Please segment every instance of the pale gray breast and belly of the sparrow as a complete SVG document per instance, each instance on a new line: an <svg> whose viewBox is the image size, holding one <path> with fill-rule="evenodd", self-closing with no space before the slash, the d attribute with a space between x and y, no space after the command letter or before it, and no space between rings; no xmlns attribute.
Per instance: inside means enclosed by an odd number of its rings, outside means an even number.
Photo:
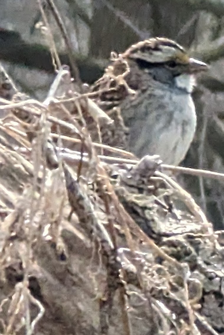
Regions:
<svg viewBox="0 0 224 335"><path fill-rule="evenodd" d="M137 156L159 154L164 163L178 165L193 139L196 115L191 95L154 82L121 105L130 128L130 150Z"/></svg>

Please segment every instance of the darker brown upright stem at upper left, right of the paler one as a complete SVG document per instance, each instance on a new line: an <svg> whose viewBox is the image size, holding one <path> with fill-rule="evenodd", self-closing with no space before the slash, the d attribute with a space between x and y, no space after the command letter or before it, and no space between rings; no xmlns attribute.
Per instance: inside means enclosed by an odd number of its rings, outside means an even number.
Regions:
<svg viewBox="0 0 224 335"><path fill-rule="evenodd" d="M76 82L79 85L79 88L81 89L81 84L82 83L81 83L80 76L79 76L79 70L78 70L78 67L75 64L74 58L72 56L72 47L71 47L70 40L68 38L68 34L67 34L67 31L66 31L64 22L62 21L62 19L60 17L60 14L58 12L57 7L54 4L54 1L53 0L46 0L46 1L49 5L49 7L52 11L52 14L53 14L53 16L54 16L54 18L55 18L55 20L58 24L58 27L61 31L62 37L64 39L64 42L65 42L65 45L66 45L66 48L67 48L67 51L68 51L68 58L69 58L69 62L70 62L71 68L72 68L72 72L74 73Z"/></svg>

